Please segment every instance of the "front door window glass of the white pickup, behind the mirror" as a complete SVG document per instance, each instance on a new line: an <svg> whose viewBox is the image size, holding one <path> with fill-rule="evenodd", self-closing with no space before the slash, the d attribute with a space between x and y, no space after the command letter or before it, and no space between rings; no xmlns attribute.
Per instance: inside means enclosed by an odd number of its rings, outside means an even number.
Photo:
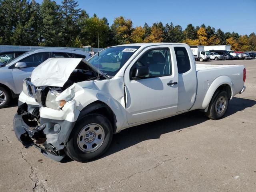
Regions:
<svg viewBox="0 0 256 192"><path fill-rule="evenodd" d="M139 66L147 66L150 74L148 77L171 75L170 52L168 48L154 49L146 52L131 68L130 75L135 76Z"/></svg>

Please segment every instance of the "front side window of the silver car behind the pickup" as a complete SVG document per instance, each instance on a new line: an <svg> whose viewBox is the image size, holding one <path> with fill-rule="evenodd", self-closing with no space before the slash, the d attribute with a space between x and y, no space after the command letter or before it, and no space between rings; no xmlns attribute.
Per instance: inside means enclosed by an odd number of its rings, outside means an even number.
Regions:
<svg viewBox="0 0 256 192"><path fill-rule="evenodd" d="M49 58L49 52L42 52L30 55L21 60L21 62L25 62L27 67L36 67L40 65L42 62Z"/></svg>

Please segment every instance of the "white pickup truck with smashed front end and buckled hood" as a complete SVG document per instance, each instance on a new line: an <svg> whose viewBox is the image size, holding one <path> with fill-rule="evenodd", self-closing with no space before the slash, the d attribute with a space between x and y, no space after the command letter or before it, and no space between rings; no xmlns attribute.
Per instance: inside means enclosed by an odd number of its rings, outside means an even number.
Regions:
<svg viewBox="0 0 256 192"><path fill-rule="evenodd" d="M109 58L116 54L120 61ZM196 109L222 118L245 78L242 65L196 64L181 43L114 46L88 61L50 58L24 80L14 132L56 161L86 162L132 126Z"/></svg>

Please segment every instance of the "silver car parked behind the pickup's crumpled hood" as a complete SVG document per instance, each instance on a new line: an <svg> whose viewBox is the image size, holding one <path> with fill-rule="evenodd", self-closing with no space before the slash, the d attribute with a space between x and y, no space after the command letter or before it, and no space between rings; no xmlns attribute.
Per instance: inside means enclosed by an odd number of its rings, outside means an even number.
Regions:
<svg viewBox="0 0 256 192"><path fill-rule="evenodd" d="M0 108L22 92L23 80L48 58L90 58L86 52L68 49L38 49L25 52L0 65Z"/></svg>

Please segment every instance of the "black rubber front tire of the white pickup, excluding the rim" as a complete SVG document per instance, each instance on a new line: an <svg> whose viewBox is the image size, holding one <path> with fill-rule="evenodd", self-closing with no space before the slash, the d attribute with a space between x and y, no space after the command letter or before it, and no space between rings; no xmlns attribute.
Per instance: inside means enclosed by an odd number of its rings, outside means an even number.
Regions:
<svg viewBox="0 0 256 192"><path fill-rule="evenodd" d="M98 124L104 130L104 140L100 147L93 152L83 152L78 146L78 136L86 125ZM88 162L100 157L110 146L113 129L110 121L101 114L89 114L80 119L74 126L66 144L66 154L75 161ZM81 141L81 140L80 140Z"/></svg>

